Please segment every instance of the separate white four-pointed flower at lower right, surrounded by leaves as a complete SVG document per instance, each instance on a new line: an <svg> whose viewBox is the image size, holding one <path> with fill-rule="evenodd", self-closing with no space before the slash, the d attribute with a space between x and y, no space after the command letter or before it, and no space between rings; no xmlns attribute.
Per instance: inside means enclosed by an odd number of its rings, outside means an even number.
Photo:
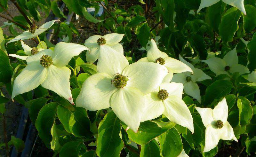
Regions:
<svg viewBox="0 0 256 157"><path fill-rule="evenodd" d="M236 136L232 126L228 123L228 105L226 98L223 98L217 106L211 108L195 107L202 118L205 129L205 145L203 152L209 152L219 140L235 140Z"/></svg>

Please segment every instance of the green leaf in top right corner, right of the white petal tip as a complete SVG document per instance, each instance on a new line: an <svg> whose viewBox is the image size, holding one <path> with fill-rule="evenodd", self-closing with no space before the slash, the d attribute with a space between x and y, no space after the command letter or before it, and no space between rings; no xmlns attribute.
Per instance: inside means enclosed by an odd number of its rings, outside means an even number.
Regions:
<svg viewBox="0 0 256 157"><path fill-rule="evenodd" d="M243 14L244 30L249 33L256 27L256 9L252 5L244 5L246 15Z"/></svg>

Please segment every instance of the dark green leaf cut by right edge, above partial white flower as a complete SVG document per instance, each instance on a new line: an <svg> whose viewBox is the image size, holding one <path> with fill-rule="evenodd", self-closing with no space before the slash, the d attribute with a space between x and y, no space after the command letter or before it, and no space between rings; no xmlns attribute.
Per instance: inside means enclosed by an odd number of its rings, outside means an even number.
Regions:
<svg viewBox="0 0 256 157"><path fill-rule="evenodd" d="M250 50L248 54L248 69L250 72L252 72L254 69L256 69L256 33L253 34L252 40L247 44L247 49Z"/></svg>

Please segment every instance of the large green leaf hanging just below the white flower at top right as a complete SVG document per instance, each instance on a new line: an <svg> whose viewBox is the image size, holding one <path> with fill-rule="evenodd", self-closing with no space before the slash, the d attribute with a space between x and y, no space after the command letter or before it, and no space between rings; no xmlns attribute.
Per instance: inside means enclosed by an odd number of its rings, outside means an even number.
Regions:
<svg viewBox="0 0 256 157"><path fill-rule="evenodd" d="M240 17L241 11L235 7L228 9L228 11L221 17L219 34L224 42L233 41L233 37L238 30L238 20Z"/></svg>

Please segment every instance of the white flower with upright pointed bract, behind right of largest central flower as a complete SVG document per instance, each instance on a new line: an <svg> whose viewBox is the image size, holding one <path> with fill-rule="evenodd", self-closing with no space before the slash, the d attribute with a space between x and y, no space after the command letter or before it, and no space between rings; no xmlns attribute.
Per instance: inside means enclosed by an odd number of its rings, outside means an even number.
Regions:
<svg viewBox="0 0 256 157"><path fill-rule="evenodd" d="M148 50L147 57L141 58L138 62L154 62L164 65L169 73L165 76L163 82L171 82L173 73L182 73L193 70L181 61L168 57L168 55L157 48L156 42L151 39L151 47Z"/></svg>

